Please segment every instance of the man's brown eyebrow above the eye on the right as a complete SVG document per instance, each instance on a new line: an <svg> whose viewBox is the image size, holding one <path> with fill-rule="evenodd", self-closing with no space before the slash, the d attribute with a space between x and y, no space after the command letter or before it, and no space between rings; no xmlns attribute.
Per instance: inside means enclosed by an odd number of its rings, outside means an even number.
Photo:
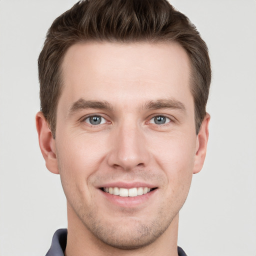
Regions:
<svg viewBox="0 0 256 256"><path fill-rule="evenodd" d="M143 105L142 108L145 108L145 109L171 108L171 109L181 110L182 112L186 111L186 108L182 102L172 98L149 100Z"/></svg>

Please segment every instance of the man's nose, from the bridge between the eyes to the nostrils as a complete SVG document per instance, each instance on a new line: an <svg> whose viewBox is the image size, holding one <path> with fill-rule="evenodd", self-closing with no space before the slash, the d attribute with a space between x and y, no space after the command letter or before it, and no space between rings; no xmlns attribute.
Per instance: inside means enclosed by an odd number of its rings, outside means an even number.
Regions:
<svg viewBox="0 0 256 256"><path fill-rule="evenodd" d="M136 125L122 125L111 136L108 164L131 170L144 167L150 159L145 135Z"/></svg>

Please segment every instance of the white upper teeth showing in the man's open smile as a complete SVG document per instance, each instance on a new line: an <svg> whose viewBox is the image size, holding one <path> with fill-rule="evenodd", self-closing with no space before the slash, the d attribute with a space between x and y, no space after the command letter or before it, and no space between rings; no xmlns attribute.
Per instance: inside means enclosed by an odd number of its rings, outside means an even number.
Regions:
<svg viewBox="0 0 256 256"><path fill-rule="evenodd" d="M123 188L123 187L102 187L101 190L103 190L106 193L119 195L123 197L128 196L139 196L146 193L149 193L150 191L154 190L154 188L150 187L132 187L132 188Z"/></svg>

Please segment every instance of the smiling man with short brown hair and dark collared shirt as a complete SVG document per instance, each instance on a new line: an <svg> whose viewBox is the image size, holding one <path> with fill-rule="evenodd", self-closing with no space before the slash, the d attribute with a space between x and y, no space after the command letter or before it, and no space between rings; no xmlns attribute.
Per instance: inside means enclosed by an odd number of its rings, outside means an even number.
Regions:
<svg viewBox="0 0 256 256"><path fill-rule="evenodd" d="M165 0L84 0L38 59L36 115L66 229L46 255L185 255L178 212L206 153L207 47Z"/></svg>

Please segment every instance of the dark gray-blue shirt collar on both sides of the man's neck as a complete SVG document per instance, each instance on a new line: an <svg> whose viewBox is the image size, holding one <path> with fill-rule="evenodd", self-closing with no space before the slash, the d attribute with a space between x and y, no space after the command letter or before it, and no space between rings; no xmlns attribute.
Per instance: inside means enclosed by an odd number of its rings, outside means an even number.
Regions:
<svg viewBox="0 0 256 256"><path fill-rule="evenodd" d="M67 229L58 229L52 237L51 245L45 256L64 256L66 248ZM178 256L186 256L186 253L178 247Z"/></svg>

